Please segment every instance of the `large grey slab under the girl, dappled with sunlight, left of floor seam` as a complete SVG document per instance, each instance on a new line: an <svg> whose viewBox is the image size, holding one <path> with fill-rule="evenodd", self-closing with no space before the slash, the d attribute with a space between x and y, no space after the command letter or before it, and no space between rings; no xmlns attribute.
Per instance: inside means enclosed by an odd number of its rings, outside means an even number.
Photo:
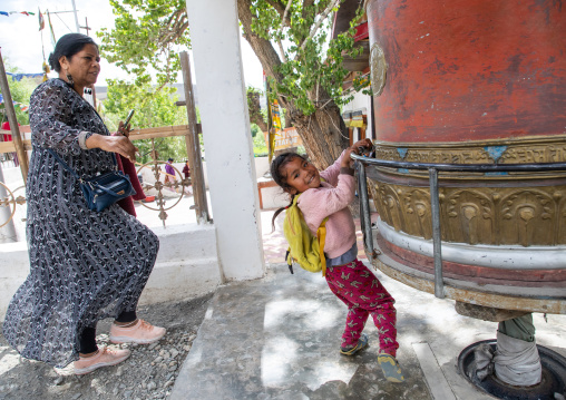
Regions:
<svg viewBox="0 0 566 400"><path fill-rule="evenodd" d="M295 269L296 270L296 269ZM412 360L408 381L383 379L378 336L352 358L339 353L347 309L319 274L289 273L217 290L177 378L172 399L430 399ZM410 349L406 349L410 350ZM401 359L413 357L402 350Z"/></svg>

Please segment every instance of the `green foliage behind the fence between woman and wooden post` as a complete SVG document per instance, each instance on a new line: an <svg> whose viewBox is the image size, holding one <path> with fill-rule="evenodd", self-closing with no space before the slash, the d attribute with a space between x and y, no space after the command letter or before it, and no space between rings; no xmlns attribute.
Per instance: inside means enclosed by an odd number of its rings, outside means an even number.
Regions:
<svg viewBox="0 0 566 400"><path fill-rule="evenodd" d="M108 79L107 82L108 97L103 101L103 118L110 131L118 128L119 121L126 119L130 109L136 111L130 121L134 128L187 124L186 109L175 105L177 96L174 88L164 87L158 90L149 84L138 86L119 79ZM135 145L142 155L139 162L149 162L152 140L136 140ZM155 139L155 145L162 160L169 157L176 160L187 158L183 136Z"/></svg>

